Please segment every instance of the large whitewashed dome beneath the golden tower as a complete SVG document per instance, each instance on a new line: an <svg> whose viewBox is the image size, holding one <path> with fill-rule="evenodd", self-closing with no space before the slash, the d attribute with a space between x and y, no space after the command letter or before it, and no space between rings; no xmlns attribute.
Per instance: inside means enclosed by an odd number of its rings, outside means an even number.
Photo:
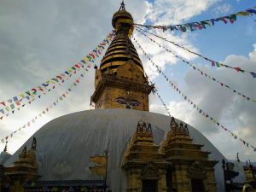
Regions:
<svg viewBox="0 0 256 192"><path fill-rule="evenodd" d="M108 149L108 184L113 192L125 191L126 179L125 172L120 168L121 161L140 119L152 125L154 143L160 144L170 130L171 121L170 117L163 114L131 109L96 109L67 114L50 121L32 136L38 142L36 155L40 180L100 179L90 172L89 166L94 164L89 161L89 157L102 155ZM215 176L218 191L224 191L221 167L224 155L200 131L188 127L194 143L203 144L203 150L212 152L209 157L219 160L215 166ZM5 161L4 166L10 166L18 160L25 145L30 148L32 137Z"/></svg>

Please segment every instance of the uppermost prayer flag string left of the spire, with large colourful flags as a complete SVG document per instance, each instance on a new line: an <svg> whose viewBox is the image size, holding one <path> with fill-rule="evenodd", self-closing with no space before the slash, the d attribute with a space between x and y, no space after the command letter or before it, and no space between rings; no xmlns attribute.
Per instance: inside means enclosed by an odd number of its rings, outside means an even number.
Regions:
<svg viewBox="0 0 256 192"><path fill-rule="evenodd" d="M57 75L55 78L46 81L36 88L20 93L18 96L14 96L5 102L0 102L0 120L2 120L3 117L8 117L10 113L15 113L15 110L20 110L26 103L30 104L36 98L40 98L42 94L46 95L50 90L55 89L55 85L64 83L65 80L68 80L73 75L73 73L77 73L81 65L89 65L90 62L95 62L96 58L102 54L103 49L105 49L113 40L113 37L114 32L112 31L108 34L107 38L103 39L102 43L99 44L96 49L93 49L83 60L73 65L73 67L69 67L64 73Z"/></svg>

